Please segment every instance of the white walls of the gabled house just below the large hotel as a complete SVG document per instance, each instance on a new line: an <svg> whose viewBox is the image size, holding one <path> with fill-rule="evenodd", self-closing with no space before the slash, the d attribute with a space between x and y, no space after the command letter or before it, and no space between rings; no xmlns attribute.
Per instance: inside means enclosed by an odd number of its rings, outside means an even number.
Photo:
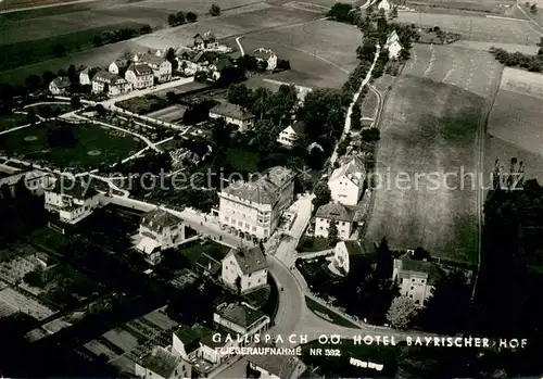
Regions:
<svg viewBox="0 0 543 379"><path fill-rule="evenodd" d="M244 254L250 254L250 252L245 252ZM266 257L262 253L258 257L260 261L255 262L257 269L241 267L243 263L239 262L235 255L236 253L231 250L222 262L220 278L225 285L237 289L236 280L241 278L241 293L248 293L267 286L268 269Z"/></svg>

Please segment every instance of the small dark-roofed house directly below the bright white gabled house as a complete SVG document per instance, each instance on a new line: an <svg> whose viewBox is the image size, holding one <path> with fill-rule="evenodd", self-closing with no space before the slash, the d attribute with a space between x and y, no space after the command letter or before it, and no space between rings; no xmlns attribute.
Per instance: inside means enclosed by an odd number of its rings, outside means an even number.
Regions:
<svg viewBox="0 0 543 379"><path fill-rule="evenodd" d="M338 228L338 238L348 240L353 232L354 212L333 201L319 206L315 213L315 237L328 238L332 223Z"/></svg>

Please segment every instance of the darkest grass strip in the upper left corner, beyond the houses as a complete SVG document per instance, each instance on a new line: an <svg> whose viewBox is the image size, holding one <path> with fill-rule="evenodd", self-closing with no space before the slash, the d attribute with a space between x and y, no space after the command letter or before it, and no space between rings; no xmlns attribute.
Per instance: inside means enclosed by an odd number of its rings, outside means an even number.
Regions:
<svg viewBox="0 0 543 379"><path fill-rule="evenodd" d="M70 55L71 53L92 48L93 37L103 31L125 28L139 29L141 26L143 26L143 24L127 22L67 33L54 37L2 45L0 49L0 70L15 68L63 55ZM59 45L64 47L64 52L55 51L56 49L54 48Z"/></svg>

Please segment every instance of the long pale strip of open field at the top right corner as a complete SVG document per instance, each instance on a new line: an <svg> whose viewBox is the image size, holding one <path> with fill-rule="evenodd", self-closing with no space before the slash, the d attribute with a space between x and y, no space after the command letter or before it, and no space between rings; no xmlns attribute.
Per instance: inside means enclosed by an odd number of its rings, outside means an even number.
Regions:
<svg viewBox="0 0 543 379"><path fill-rule="evenodd" d="M535 45L540 36L529 22L516 20L400 12L396 21L422 26L440 26L446 31L459 33L463 39L475 41Z"/></svg>

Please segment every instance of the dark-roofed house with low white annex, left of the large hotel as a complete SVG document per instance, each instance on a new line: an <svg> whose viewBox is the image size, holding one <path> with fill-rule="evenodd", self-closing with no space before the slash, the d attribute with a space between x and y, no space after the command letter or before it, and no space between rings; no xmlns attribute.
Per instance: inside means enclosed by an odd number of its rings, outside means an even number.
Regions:
<svg viewBox="0 0 543 379"><path fill-rule="evenodd" d="M155 209L141 217L136 249L146 261L156 265L162 260L162 251L185 241L185 223L172 213Z"/></svg>

